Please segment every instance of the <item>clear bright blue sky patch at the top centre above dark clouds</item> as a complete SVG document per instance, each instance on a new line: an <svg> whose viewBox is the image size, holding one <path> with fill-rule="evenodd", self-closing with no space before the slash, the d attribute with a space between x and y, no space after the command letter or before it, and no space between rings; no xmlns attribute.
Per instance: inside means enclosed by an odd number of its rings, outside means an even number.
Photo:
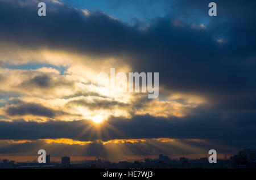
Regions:
<svg viewBox="0 0 256 180"><path fill-rule="evenodd" d="M90 12L101 11L105 14L117 18L129 25L150 24L154 18L166 16L172 8L172 1L148 0L148 1L116 1L116 0L96 0L96 1L64 1L67 5L88 10Z"/></svg>

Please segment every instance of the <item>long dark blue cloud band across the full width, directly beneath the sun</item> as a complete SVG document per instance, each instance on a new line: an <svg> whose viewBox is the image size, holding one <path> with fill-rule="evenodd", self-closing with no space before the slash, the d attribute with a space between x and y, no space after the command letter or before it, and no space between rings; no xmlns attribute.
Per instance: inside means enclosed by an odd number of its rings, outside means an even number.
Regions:
<svg viewBox="0 0 256 180"><path fill-rule="evenodd" d="M204 110L204 109L201 109ZM200 112L200 110L198 110ZM207 112L187 118L135 116L110 118L99 134L92 121L0 122L0 139L111 140L140 138L207 139L233 147L251 147L256 138L256 114Z"/></svg>

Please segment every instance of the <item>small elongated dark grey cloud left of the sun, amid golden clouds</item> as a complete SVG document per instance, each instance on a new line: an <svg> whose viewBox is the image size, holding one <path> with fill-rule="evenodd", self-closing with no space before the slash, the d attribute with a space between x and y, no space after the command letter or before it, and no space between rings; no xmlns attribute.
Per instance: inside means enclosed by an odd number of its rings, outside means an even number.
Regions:
<svg viewBox="0 0 256 180"><path fill-rule="evenodd" d="M60 110L53 110L50 108L47 108L40 104L35 103L27 103L19 101L16 102L15 106L8 106L5 109L6 114L10 116L15 115L38 115L48 118L54 118L58 115L68 115L68 113L62 112Z"/></svg>

